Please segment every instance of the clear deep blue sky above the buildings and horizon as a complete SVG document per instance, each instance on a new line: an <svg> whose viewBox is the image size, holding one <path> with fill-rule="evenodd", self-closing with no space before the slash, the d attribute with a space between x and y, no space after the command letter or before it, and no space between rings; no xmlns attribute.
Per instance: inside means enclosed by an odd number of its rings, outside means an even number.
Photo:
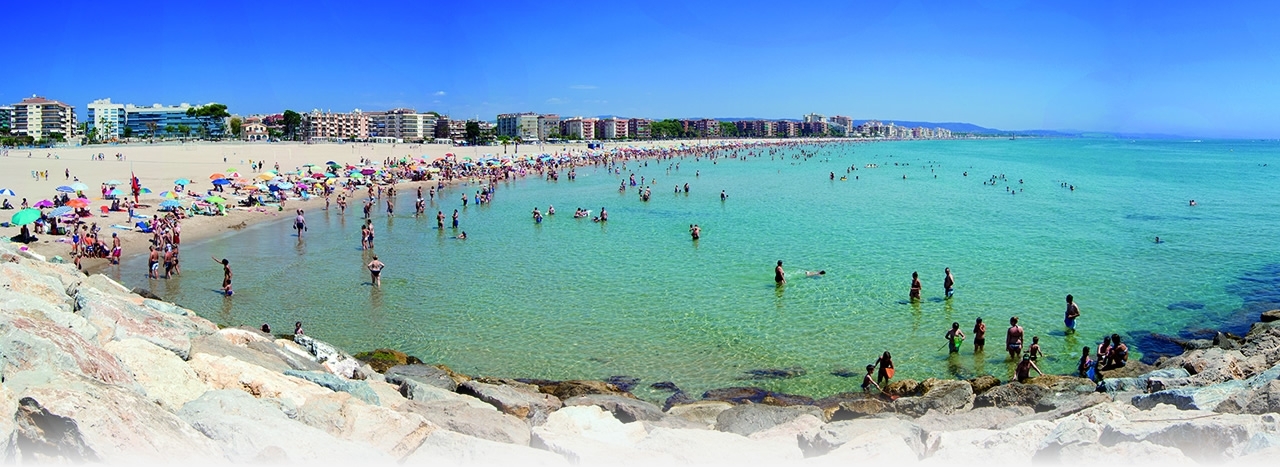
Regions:
<svg viewBox="0 0 1280 467"><path fill-rule="evenodd" d="M1050 5L1062 4L1062 5ZM1280 3L18 1L0 101L1280 137ZM31 22L27 29L20 24ZM29 37L29 40L28 40Z"/></svg>

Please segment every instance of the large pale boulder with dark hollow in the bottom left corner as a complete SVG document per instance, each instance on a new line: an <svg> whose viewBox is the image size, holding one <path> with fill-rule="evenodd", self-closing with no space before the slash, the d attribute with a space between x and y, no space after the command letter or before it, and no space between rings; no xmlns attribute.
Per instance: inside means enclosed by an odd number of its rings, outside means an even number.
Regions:
<svg viewBox="0 0 1280 467"><path fill-rule="evenodd" d="M17 445L23 462L209 462L209 439L145 397L77 375L19 394Z"/></svg>

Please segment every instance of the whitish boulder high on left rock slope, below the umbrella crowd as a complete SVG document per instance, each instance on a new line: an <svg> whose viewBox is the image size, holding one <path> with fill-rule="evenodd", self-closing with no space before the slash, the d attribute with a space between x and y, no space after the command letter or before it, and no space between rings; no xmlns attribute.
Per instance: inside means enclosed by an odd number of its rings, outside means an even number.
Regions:
<svg viewBox="0 0 1280 467"><path fill-rule="evenodd" d="M79 289L76 293L76 312L97 326L99 344L140 338L187 360L191 354L192 338L218 330L204 319L156 310L147 306L148 303L143 303L141 297L129 299L104 294L96 289ZM175 308L172 305L168 307Z"/></svg>

